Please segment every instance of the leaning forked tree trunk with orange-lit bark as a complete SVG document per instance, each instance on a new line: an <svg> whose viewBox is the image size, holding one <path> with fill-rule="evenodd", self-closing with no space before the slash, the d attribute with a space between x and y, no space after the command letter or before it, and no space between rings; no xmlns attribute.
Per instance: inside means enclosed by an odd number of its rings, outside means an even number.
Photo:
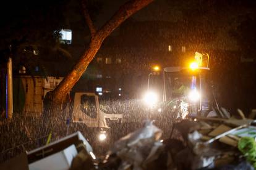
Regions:
<svg viewBox="0 0 256 170"><path fill-rule="evenodd" d="M79 81L80 77L87 69L89 63L95 57L104 39L109 36L109 34L111 34L113 30L117 28L122 22L124 22L124 20L129 18L130 15L147 6L151 2L153 2L153 0L132 0L126 2L126 4L122 5L113 15L113 17L111 17L111 19L108 20L108 22L106 22L105 25L103 25L98 31L95 30L86 6L82 3L85 20L90 28L92 38L88 48L85 50L85 52L83 52L83 55L75 64L74 68L61 81L56 89L54 89L51 95L49 95L53 105L62 105L66 95L71 91L72 87L74 87L75 83Z"/></svg>

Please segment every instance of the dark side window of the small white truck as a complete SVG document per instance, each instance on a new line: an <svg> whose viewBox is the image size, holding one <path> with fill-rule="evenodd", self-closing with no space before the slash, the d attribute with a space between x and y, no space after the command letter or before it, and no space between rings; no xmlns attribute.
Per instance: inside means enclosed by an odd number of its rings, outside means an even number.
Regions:
<svg viewBox="0 0 256 170"><path fill-rule="evenodd" d="M96 102L94 95L81 96L81 110L91 118L97 117Z"/></svg>

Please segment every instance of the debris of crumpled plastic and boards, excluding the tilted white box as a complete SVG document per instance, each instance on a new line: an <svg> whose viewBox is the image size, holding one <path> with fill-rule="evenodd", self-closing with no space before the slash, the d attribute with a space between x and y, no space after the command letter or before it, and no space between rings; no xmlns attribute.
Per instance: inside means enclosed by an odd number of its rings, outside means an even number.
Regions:
<svg viewBox="0 0 256 170"><path fill-rule="evenodd" d="M153 124L123 137L100 169L254 169L256 127L252 119L184 119L169 139ZM148 136L145 135L147 132Z"/></svg>

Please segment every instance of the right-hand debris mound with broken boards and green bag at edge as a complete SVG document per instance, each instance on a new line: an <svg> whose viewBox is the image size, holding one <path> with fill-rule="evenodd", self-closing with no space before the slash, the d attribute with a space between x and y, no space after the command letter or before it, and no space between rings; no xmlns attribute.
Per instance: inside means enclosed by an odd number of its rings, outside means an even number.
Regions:
<svg viewBox="0 0 256 170"><path fill-rule="evenodd" d="M169 152L177 169L254 169L254 125L252 119L186 119L174 126L182 136L184 148ZM169 140L174 139L171 134Z"/></svg>

